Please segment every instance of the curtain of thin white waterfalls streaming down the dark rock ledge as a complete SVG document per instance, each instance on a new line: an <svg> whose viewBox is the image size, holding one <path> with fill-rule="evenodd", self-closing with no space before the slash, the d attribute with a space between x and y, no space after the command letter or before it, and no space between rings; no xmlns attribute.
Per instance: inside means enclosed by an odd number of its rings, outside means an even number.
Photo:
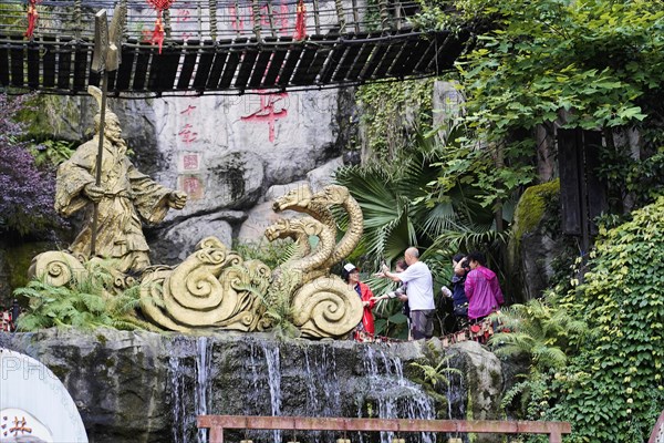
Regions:
<svg viewBox="0 0 664 443"><path fill-rule="evenodd" d="M194 341L195 340L195 341ZM175 443L205 443L196 415L436 418L434 401L404 377L402 360L381 344L339 348L332 343L284 344L249 339L241 344L214 338L175 340L169 359ZM242 357L243 356L243 357ZM221 369L224 368L224 369ZM454 395L455 387L449 388ZM450 406L452 408L452 406ZM454 411L447 411L450 416ZM340 432L234 431L230 442L334 443ZM432 433L349 433L354 443L435 443Z"/></svg>

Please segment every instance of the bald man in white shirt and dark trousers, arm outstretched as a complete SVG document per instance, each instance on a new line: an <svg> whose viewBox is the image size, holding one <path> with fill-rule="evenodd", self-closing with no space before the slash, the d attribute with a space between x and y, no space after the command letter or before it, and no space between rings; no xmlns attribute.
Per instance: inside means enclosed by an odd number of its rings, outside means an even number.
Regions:
<svg viewBox="0 0 664 443"><path fill-rule="evenodd" d="M413 340L430 339L434 334L434 279L425 262L419 261L419 251L409 247L404 254L408 268L403 272L391 272L386 265L378 275L394 281L407 284L406 296L411 307L411 337Z"/></svg>

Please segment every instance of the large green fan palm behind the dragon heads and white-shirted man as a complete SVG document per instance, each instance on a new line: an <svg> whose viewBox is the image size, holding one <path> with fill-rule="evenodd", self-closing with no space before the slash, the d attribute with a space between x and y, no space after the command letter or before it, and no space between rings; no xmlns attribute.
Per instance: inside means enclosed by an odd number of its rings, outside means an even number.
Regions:
<svg viewBox="0 0 664 443"><path fill-rule="evenodd" d="M450 140L455 138L455 133ZM476 177L468 167L442 171L447 159L457 156L457 146L442 145L434 136L417 135L400 158L391 163L373 163L338 171L335 181L346 186L362 207L364 236L353 261L364 268L377 269L382 260L393 262L406 248L421 249L435 277L435 287L448 285L452 277L449 260L459 250L481 249L488 256L497 256L508 235L498 231L491 208L483 206L486 195L470 186ZM445 175L446 185L439 186ZM502 214L511 218L516 202L504 203ZM340 214L340 225L347 220ZM362 256L362 260L357 257ZM491 262L499 261L497 258ZM365 279L374 292L388 289L391 281ZM377 313L401 320L400 305L386 303ZM387 321L390 323L390 321ZM396 324L394 324L396 326Z"/></svg>

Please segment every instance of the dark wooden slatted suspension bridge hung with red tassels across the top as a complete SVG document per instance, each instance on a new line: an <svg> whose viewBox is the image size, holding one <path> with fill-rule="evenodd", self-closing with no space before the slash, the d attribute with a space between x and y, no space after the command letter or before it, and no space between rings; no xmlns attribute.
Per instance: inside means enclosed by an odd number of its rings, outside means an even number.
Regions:
<svg viewBox="0 0 664 443"><path fill-rule="evenodd" d="M25 4L25 1L28 3ZM122 63L108 93L241 94L438 74L469 32L419 31L406 0L120 0ZM0 87L86 94L94 14L113 0L0 0ZM160 17L160 18L159 18ZM158 19L158 21L157 21ZM28 34L28 35L27 35ZM163 39L162 44L159 41Z"/></svg>

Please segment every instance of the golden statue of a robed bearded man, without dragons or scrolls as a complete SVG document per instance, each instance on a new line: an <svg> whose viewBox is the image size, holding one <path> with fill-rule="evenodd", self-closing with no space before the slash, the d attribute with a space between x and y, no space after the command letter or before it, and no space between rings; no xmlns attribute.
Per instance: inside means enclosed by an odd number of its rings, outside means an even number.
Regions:
<svg viewBox="0 0 664 443"><path fill-rule="evenodd" d="M96 91L95 91L96 90ZM101 107L101 91L90 91ZM116 259L121 272L142 272L149 266L148 246L141 223L164 219L169 208L181 209L187 195L152 181L138 172L126 156L127 145L121 137L117 115L106 111L101 184L96 186L96 155L101 115L95 115L95 136L82 144L58 168L55 209L65 217L86 208L83 230L70 250L90 258L93 205L98 210L95 254Z"/></svg>

